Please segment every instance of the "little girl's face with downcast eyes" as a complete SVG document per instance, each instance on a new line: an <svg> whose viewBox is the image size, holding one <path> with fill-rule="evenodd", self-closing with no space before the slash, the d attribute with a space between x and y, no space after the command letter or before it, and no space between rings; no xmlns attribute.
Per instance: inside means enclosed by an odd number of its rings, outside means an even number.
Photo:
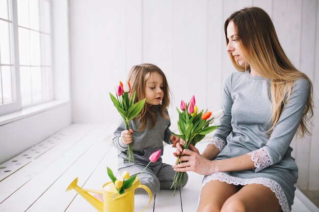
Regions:
<svg viewBox="0 0 319 212"><path fill-rule="evenodd" d="M158 73L152 73L146 81L145 98L150 105L159 105L164 97L163 77Z"/></svg>

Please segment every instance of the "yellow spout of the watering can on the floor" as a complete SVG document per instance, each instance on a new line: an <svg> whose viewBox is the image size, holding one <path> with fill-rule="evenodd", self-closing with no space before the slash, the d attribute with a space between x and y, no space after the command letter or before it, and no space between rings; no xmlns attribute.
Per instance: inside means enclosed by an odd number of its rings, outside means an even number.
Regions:
<svg viewBox="0 0 319 212"><path fill-rule="evenodd" d="M103 212L103 203L100 202L98 199L90 195L87 191L84 190L81 187L77 186L77 177L72 181L72 183L68 186L66 191L70 191L71 189L74 189L79 195L81 195L84 199L86 199L95 209L97 209L100 212ZM100 193L102 194L103 191L98 190L90 190L90 192L94 193Z"/></svg>

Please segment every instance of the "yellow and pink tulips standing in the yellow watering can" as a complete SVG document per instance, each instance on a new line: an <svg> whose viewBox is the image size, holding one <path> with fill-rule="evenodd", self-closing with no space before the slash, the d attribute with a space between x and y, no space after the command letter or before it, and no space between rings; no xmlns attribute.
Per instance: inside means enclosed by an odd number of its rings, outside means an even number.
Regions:
<svg viewBox="0 0 319 212"><path fill-rule="evenodd" d="M144 172L144 170L149 166L151 162L157 161L159 156L161 155L162 150L157 150L156 152L152 153L152 155L149 157L149 163L143 171L140 173L140 175ZM127 171L123 171L122 173L122 179L117 179L116 176L114 176L112 170L108 167L108 175L111 178L116 190L120 193L123 194L125 189L128 189L132 186L134 183L137 174L132 175L131 177L129 176L129 173Z"/></svg>

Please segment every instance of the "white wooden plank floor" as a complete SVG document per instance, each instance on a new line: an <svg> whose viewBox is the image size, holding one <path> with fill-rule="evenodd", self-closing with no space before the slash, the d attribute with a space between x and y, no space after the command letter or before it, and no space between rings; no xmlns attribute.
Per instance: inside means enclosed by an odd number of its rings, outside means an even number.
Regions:
<svg viewBox="0 0 319 212"><path fill-rule="evenodd" d="M20 155L0 165L0 211L95 211L72 190L65 192L78 177L78 186L101 189L110 181L107 166L117 170L112 135L116 126L76 124L50 136ZM203 150L207 141L198 144ZM173 164L173 148L165 145L163 161ZM161 190L145 211L196 211L202 176L189 172L189 182L173 196ZM135 211L141 211L147 196L135 196ZM294 212L319 211L299 190Z"/></svg>

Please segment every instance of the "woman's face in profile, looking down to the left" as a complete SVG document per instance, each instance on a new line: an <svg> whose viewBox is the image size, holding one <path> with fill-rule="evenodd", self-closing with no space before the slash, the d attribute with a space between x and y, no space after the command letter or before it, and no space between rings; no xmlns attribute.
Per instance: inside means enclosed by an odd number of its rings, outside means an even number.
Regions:
<svg viewBox="0 0 319 212"><path fill-rule="evenodd" d="M241 48L238 46L238 42L236 40L236 32L235 32L235 25L232 21L229 21L227 26L227 38L229 40L229 43L227 45L226 50L232 54L235 61L241 65L249 65L247 61L244 58L243 52ZM246 64L245 64L246 62Z"/></svg>

